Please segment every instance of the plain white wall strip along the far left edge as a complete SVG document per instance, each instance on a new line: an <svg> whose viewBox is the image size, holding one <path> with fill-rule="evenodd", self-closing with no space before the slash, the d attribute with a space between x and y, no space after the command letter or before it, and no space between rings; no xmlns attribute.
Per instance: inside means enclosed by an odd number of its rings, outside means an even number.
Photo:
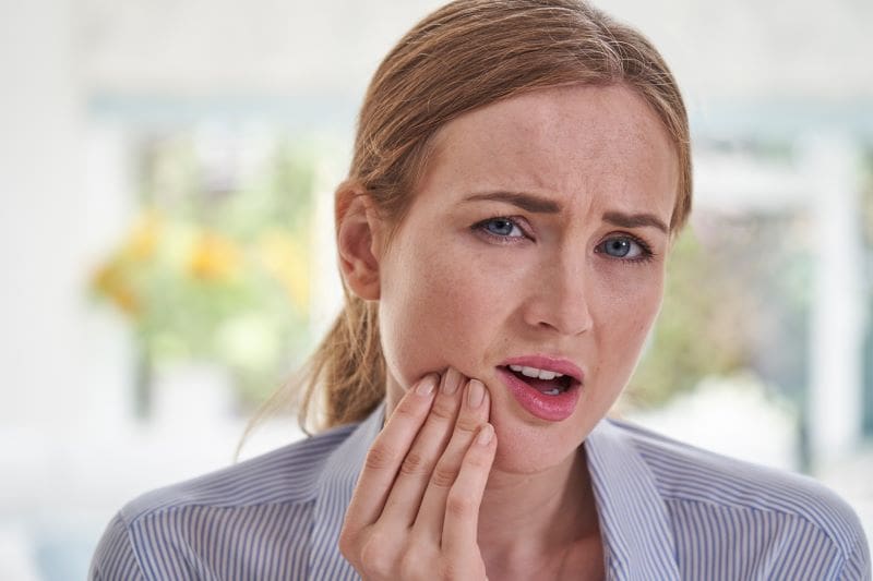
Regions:
<svg viewBox="0 0 873 581"><path fill-rule="evenodd" d="M67 0L0 16L0 421L61 425L81 388L83 95Z"/></svg>

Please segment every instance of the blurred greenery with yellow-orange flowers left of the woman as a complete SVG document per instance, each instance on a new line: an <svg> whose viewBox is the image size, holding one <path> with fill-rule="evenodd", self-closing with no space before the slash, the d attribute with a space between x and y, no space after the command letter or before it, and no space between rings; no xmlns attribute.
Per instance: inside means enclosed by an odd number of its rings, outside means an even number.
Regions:
<svg viewBox="0 0 873 581"><path fill-rule="evenodd" d="M148 365L216 362L254 403L309 348L314 159L287 140L248 164L202 147L190 133L145 143L143 213L92 288Z"/></svg>

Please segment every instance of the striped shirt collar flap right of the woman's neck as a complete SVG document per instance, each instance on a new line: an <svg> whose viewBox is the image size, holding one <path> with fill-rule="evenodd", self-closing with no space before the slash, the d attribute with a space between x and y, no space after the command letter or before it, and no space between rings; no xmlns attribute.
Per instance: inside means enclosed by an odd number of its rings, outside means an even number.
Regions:
<svg viewBox="0 0 873 581"><path fill-rule="evenodd" d="M585 440L611 580L679 580L672 526L631 436L602 420Z"/></svg>

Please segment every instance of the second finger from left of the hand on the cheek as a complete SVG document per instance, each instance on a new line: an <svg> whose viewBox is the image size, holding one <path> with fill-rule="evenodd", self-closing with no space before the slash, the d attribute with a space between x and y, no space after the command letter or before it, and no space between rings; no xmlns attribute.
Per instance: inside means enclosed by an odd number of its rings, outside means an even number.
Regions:
<svg viewBox="0 0 873 581"><path fill-rule="evenodd" d="M466 378L454 367L443 374L436 399L400 464L380 520L395 522L404 528L411 526L415 522L430 475L452 437L465 383Z"/></svg>

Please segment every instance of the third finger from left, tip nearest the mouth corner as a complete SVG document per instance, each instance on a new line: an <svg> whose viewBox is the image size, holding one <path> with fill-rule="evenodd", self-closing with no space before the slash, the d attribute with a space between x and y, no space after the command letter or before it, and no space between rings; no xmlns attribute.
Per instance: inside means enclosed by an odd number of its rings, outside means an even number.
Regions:
<svg viewBox="0 0 873 581"><path fill-rule="evenodd" d="M429 542L440 543L449 491L455 483L474 436L488 421L489 408L490 399L485 385L478 379L470 379L464 392L464 404L458 412L452 439L428 481L414 524L416 534L424 535Z"/></svg>

